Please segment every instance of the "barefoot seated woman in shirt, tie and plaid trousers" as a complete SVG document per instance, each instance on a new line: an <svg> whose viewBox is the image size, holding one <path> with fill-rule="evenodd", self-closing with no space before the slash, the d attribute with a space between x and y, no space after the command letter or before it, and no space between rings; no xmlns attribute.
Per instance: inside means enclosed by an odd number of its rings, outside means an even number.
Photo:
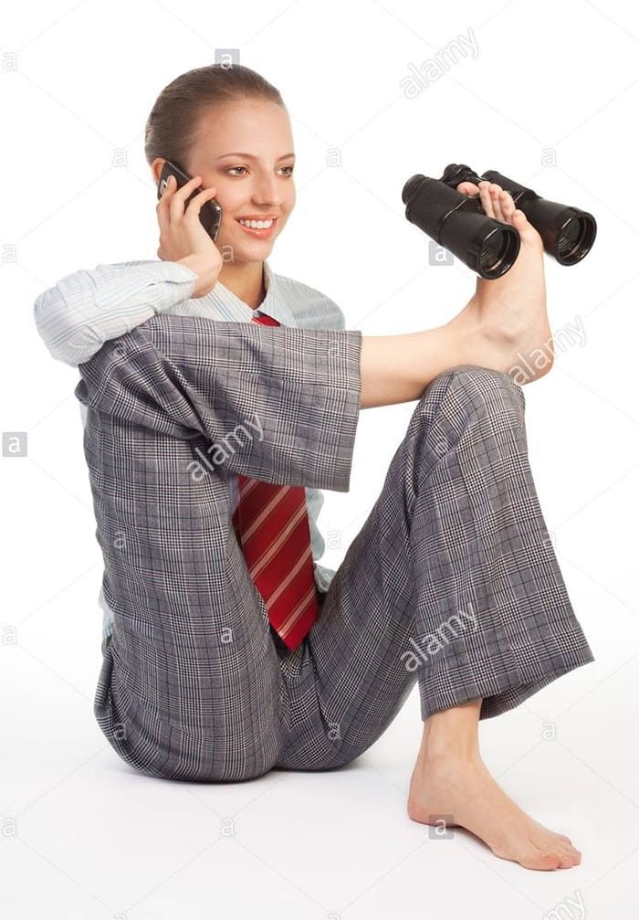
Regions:
<svg viewBox="0 0 639 920"><path fill-rule="evenodd" d="M149 776L237 781L348 763L417 681L410 818L466 827L527 868L575 866L569 838L508 798L478 744L479 719L593 661L508 373L552 340L541 239L507 192L463 183L519 231L516 265L479 280L442 327L364 337L268 265L295 203L292 150L280 93L260 75L213 65L177 77L146 129L154 182L165 159L193 177L157 204L161 260L75 272L36 304L51 353L82 374L110 615L97 721ZM216 244L198 216L212 197ZM337 572L318 574L317 503L300 505L299 490L347 490L359 409L411 400L368 520ZM243 529L246 492L261 497ZM249 532L290 498L298 555L266 590ZM274 597L313 574L317 597L302 590L291 636Z"/></svg>

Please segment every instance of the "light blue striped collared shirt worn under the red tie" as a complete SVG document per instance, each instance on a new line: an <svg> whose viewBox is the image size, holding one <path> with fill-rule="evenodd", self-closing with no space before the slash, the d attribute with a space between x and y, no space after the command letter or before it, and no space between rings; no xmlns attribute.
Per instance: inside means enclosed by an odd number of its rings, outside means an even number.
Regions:
<svg viewBox="0 0 639 920"><path fill-rule="evenodd" d="M154 260L99 264L93 270L74 271L40 293L34 305L36 327L53 358L72 367L88 361L104 342L117 339L157 313L208 316L226 322L251 322L253 316L265 313L284 326L345 328L344 314L334 301L307 284L276 274L268 259L264 262L266 296L256 310L222 282L204 297L191 299L197 277L186 265ZM86 408L82 405L80 412L84 424ZM237 477L231 477L229 484L233 514L238 500ZM306 500L315 582L321 591L327 591L335 569L317 562L325 551L317 526L324 495L320 489L306 489ZM101 587L98 604L103 611L104 648L113 629L113 613Z"/></svg>

